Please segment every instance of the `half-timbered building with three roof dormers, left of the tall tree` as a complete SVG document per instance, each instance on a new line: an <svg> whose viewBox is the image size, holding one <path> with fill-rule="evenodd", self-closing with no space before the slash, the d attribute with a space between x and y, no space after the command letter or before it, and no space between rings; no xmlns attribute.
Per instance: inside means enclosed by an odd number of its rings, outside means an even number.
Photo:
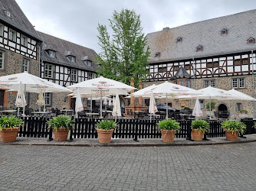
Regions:
<svg viewBox="0 0 256 191"><path fill-rule="evenodd" d="M97 53L87 47L71 43L38 31L43 40L41 49L40 77L61 86L71 86L87 79L93 79L97 66ZM48 107L74 107L74 99L66 93L47 93Z"/></svg>

